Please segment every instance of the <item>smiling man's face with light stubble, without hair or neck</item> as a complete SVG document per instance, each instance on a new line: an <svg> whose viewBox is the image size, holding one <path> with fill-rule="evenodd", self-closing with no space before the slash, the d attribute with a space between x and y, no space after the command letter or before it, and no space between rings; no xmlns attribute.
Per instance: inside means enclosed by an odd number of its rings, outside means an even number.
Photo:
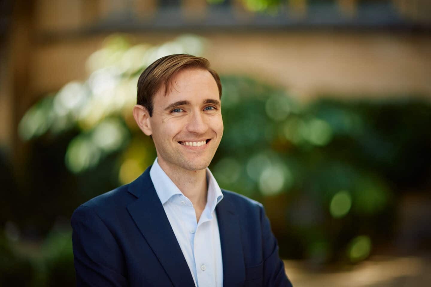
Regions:
<svg viewBox="0 0 431 287"><path fill-rule="evenodd" d="M223 135L219 89L202 69L185 69L153 98L149 118L159 164L171 171L209 166Z"/></svg>

